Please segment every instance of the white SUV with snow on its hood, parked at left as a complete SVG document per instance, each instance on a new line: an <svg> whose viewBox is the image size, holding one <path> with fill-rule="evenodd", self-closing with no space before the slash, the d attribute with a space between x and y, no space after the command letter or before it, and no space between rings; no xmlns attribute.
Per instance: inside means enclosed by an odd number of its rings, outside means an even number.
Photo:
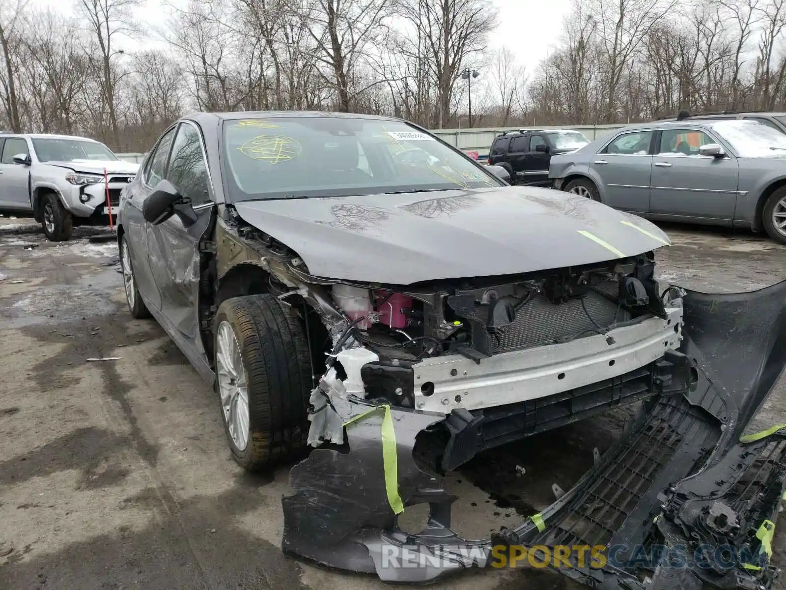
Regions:
<svg viewBox="0 0 786 590"><path fill-rule="evenodd" d="M105 225L139 165L69 135L0 134L0 212L32 215L53 242L75 225ZM116 212L112 211L112 216Z"/></svg>

